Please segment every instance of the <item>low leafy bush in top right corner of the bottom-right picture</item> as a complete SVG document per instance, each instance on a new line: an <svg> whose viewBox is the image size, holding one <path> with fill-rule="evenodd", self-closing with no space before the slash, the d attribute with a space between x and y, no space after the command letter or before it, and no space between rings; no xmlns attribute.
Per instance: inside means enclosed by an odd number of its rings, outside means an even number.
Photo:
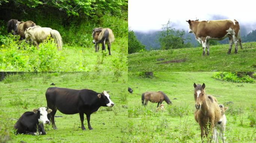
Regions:
<svg viewBox="0 0 256 143"><path fill-rule="evenodd" d="M223 81L235 82L235 83L254 83L255 82L255 80L248 75L244 75L243 77L238 77L237 73L232 73L232 72L217 72L217 73L214 73L212 77L217 80L223 80Z"/></svg>

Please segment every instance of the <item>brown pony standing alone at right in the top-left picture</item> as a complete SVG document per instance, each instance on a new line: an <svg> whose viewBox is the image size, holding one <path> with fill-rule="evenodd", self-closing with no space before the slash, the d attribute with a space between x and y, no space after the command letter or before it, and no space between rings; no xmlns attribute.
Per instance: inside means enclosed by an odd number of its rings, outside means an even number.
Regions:
<svg viewBox="0 0 256 143"><path fill-rule="evenodd" d="M107 49L109 50L109 55L111 55L110 52L110 46L111 43L115 40L115 36L110 28L94 28L92 30L92 38L93 38L93 44L95 48L95 52L98 51L97 45L102 44L101 49L105 50L106 52L106 45L107 44Z"/></svg>

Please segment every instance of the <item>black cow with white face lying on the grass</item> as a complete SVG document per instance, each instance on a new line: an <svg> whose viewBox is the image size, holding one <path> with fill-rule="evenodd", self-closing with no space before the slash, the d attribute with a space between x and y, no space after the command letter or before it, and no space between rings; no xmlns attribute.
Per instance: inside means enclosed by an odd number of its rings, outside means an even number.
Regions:
<svg viewBox="0 0 256 143"><path fill-rule="evenodd" d="M39 134L46 134L43 124L50 123L47 118L47 114L50 112L52 112L52 110L46 107L33 109L32 112L25 112L14 125L16 134L36 135L37 131Z"/></svg>

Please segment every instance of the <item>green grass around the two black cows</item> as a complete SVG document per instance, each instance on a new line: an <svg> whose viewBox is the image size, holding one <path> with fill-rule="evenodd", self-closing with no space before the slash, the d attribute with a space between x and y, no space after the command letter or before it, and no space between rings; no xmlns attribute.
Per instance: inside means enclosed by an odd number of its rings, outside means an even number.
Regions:
<svg viewBox="0 0 256 143"><path fill-rule="evenodd" d="M126 142L122 129L127 124L127 73L120 77L113 72L82 72L82 73L24 73L6 77L0 82L0 142L6 135L10 142L20 143L98 143L98 142ZM58 130L51 125L45 125L47 134L44 136L14 135L13 125L25 112L33 108L45 107L45 91L51 83L57 87L71 89L92 89L97 92L110 91L115 106L112 108L100 107L91 115L91 126L88 130L80 128L79 114L65 115L57 111L55 123Z"/></svg>

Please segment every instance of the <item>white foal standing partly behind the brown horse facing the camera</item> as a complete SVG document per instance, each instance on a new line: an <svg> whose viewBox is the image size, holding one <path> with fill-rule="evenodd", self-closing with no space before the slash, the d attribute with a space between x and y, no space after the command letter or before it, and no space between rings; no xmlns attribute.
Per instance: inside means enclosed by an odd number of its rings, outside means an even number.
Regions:
<svg viewBox="0 0 256 143"><path fill-rule="evenodd" d="M220 138L222 139L222 142L225 143L225 129L226 129L226 123L227 123L227 119L226 119L226 115L225 115L225 111L228 109L228 107L224 107L224 105L220 104L219 105L220 110L221 110L221 119L218 121L218 123L215 125L215 128L213 130L213 141L219 143L218 141L218 132L217 132L217 128L219 128L220 130ZM217 128L216 128L217 127Z"/></svg>

